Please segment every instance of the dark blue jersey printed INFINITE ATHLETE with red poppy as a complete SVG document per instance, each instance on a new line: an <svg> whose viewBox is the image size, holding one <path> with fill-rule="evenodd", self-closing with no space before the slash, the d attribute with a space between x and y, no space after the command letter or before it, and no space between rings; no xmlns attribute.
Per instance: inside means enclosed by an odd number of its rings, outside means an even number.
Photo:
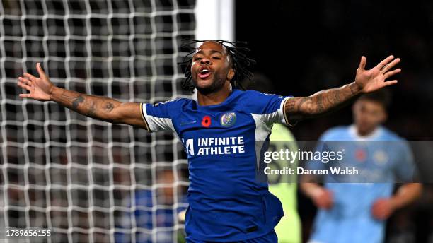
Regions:
<svg viewBox="0 0 433 243"><path fill-rule="evenodd" d="M283 216L278 198L255 179L272 124L286 124L289 97L233 89L219 105L179 99L142 104L149 131L173 131L187 153L187 239L232 242L270 232Z"/></svg>

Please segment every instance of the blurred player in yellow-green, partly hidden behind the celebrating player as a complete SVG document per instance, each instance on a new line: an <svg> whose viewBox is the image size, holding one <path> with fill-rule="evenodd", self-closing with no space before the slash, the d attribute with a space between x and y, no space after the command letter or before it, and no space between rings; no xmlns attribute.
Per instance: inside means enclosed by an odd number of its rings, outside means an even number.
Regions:
<svg viewBox="0 0 433 243"><path fill-rule="evenodd" d="M243 81L243 87L246 90L258 90L263 93L275 93L274 85L270 78L262 73L254 73L252 80ZM289 127L283 124L274 124L270 135L269 151L289 150L297 151L298 144L296 138L291 133ZM287 160L272 160L270 166L278 166L279 168L290 166L296 169L298 161L288 163ZM277 169L277 167L272 167ZM301 219L299 218L297 208L297 176L280 176L277 178L269 178L269 191L277 196L281 201L284 211L284 217L279 220L275 226L279 243L301 243Z"/></svg>

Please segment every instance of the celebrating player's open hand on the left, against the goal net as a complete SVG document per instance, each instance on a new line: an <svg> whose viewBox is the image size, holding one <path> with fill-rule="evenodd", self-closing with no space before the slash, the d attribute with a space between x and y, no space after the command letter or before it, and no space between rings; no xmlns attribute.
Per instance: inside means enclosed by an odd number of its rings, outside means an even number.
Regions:
<svg viewBox="0 0 433 243"><path fill-rule="evenodd" d="M39 78L36 78L30 73L24 73L24 77L18 78L18 86L30 92L26 94L20 94L20 97L31 98L40 101L51 100L51 93L55 86L51 83L50 78L48 78L48 76L42 70L40 63L36 64L36 70L39 74Z"/></svg>

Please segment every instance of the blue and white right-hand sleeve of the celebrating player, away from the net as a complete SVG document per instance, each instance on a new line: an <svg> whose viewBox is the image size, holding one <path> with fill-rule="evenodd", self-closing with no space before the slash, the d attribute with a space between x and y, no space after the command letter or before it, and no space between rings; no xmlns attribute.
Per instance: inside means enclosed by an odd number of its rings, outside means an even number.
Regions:
<svg viewBox="0 0 433 243"><path fill-rule="evenodd" d="M293 96L280 96L267 93L255 93L253 105L260 106L260 116L266 124L289 124L286 114L284 114L284 104Z"/></svg>

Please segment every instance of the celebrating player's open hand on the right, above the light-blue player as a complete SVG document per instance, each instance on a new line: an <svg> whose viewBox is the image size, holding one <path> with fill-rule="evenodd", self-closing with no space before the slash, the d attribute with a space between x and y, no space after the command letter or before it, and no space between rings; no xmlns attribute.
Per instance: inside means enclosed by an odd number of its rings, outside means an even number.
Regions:
<svg viewBox="0 0 433 243"><path fill-rule="evenodd" d="M373 92L385 86L396 84L397 80L386 81L386 79L396 73L400 73L401 69L391 70L399 62L399 58L394 59L394 56L391 55L377 64L373 69L366 70L366 58L363 56L361 57L361 62L357 69L355 83L358 85L359 89L362 90L362 93Z"/></svg>

